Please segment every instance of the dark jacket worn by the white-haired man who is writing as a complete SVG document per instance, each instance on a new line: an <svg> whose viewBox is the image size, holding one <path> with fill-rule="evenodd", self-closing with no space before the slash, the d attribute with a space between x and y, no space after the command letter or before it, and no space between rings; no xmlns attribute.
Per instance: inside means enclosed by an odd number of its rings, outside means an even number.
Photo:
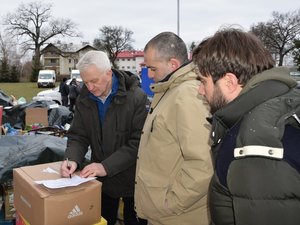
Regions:
<svg viewBox="0 0 300 225"><path fill-rule="evenodd" d="M97 103L84 85L76 101L68 131L65 157L82 167L91 147L91 161L102 163L107 176L100 178L102 190L111 197L133 196L136 157L147 116L147 95L135 75L113 70L119 88L101 123Z"/></svg>

